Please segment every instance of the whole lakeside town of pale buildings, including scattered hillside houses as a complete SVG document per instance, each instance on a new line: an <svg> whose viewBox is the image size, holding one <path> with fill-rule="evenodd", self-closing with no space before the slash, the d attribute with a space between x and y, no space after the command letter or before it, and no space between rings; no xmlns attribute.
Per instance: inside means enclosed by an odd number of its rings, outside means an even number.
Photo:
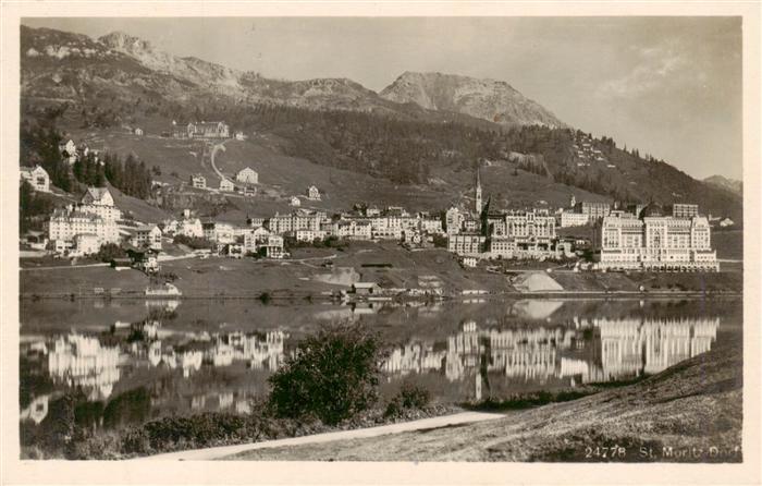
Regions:
<svg viewBox="0 0 762 486"><path fill-rule="evenodd" d="M143 136L140 129L134 133ZM213 145L230 137L224 122L173 124L162 136L199 138ZM236 139L246 135L236 132ZM580 142L580 153L588 142ZM86 156L86 146L67 141L60 147L70 163ZM582 154L585 155L585 154ZM96 154L97 157L97 154ZM212 157L213 165L213 157ZM256 167L256 165L255 165ZM214 167L221 193L256 195L260 174L251 167L226 177ZM35 192L50 192L50 178L41 167L22 168L22 183ZM190 175L188 186L207 190L207 178ZM411 214L401 206L379 208L359 202L351 210L329 211L303 208L304 202L320 202L316 185L287 199L285 214L248 216L233 223L199 216L184 209L176 218L142 222L126 218L107 186L87 187L79 202L57 207L47 221L47 231L28 231L22 236L26 255L69 259L100 258L115 270L137 269L159 276L162 262L176 258L255 258L282 260L298 247L335 247L357 242L392 242L402 252L446 248L465 270L488 268L509 271L527 262L546 263L540 268L572 271L718 271L712 250L712 227L734 224L729 218L703 216L697 204L630 204L577 202L572 195L567 207L533 207L523 210L493 207L482 194L480 171L474 179L472 203L460 201L440 212ZM486 199L486 201L484 201ZM469 204L472 206L469 207ZM173 252L168 252L168 247ZM103 252L108 248L108 252ZM105 253L110 256L105 257ZM323 262L328 268L332 263ZM361 277L360 277L361 278ZM145 289L147 296L180 295L170 281ZM346 284L347 282L344 282ZM352 292L398 294L401 289L379 288L376 281L355 278ZM441 295L441 285L402 289L409 295ZM555 290L545 282L538 290ZM98 290L96 293L102 293Z"/></svg>

